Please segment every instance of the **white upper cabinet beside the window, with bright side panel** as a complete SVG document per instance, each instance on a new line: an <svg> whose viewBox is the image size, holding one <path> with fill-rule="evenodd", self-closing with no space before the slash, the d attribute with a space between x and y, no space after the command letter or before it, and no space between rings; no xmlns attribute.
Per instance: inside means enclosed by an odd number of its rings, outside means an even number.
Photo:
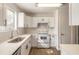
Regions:
<svg viewBox="0 0 79 59"><path fill-rule="evenodd" d="M32 27L32 17L26 15L23 12L20 12L18 14L18 27L26 27L26 28L30 28Z"/></svg>

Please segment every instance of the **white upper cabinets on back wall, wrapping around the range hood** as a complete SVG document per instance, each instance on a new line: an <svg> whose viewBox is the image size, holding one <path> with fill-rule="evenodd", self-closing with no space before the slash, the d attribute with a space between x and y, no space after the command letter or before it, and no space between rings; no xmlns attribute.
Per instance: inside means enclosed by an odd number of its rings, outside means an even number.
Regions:
<svg viewBox="0 0 79 59"><path fill-rule="evenodd" d="M54 27L55 20L54 17L33 17L32 26L37 27L38 23L48 23L49 27Z"/></svg>

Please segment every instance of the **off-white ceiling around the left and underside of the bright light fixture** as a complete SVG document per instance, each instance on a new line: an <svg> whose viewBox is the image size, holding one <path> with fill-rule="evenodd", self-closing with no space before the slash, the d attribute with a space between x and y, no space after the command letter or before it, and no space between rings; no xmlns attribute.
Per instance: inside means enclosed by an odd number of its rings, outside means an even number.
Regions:
<svg viewBox="0 0 79 59"><path fill-rule="evenodd" d="M28 13L53 13L57 7L36 7L35 3L17 3L23 11Z"/></svg>

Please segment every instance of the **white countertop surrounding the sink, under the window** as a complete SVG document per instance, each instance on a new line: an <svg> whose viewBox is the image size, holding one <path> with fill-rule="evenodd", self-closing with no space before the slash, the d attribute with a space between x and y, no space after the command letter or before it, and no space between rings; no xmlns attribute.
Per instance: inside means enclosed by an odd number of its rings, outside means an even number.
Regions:
<svg viewBox="0 0 79 59"><path fill-rule="evenodd" d="M25 39L18 43L8 43L8 41L13 40L9 39L2 44L0 44L0 55L12 55L31 35L19 35L16 37L25 37ZM14 37L14 38L16 38Z"/></svg>

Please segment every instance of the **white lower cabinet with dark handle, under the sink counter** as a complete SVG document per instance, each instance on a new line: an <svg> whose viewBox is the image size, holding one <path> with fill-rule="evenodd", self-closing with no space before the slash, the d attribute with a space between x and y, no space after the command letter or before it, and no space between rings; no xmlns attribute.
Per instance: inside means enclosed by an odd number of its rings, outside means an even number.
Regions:
<svg viewBox="0 0 79 59"><path fill-rule="evenodd" d="M28 55L31 49L31 41L26 41L21 46L21 55Z"/></svg>

